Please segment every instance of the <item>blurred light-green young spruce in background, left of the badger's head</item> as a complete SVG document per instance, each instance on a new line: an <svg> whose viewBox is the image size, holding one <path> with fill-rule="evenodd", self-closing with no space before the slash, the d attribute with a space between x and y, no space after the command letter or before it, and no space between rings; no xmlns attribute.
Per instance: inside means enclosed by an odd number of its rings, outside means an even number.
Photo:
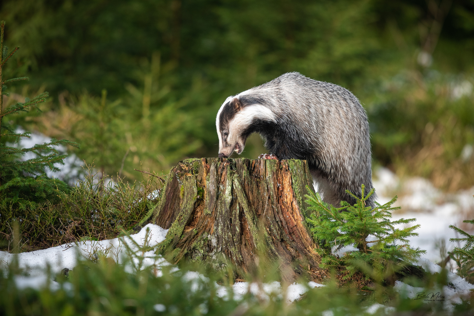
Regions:
<svg viewBox="0 0 474 316"><path fill-rule="evenodd" d="M202 146L199 136L202 133L202 114L197 108L187 107L196 102L192 99L202 87L197 81L197 86L179 99L172 99L170 75L162 68L161 55L155 52L149 69L142 73L143 89L126 84L129 95L125 100L129 109L126 110L125 122L129 126L126 135L132 152L129 165L137 165L139 160L151 170L161 168L167 171L173 163Z"/></svg>

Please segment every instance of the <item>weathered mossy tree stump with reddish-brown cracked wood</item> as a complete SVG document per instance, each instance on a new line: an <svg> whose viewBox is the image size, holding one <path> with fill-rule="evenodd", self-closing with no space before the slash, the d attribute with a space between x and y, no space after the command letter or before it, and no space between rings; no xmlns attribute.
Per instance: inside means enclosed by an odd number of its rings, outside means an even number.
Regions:
<svg viewBox="0 0 474 316"><path fill-rule="evenodd" d="M169 229L162 251L174 251L173 263L230 262L248 273L266 255L283 280L320 280L306 185L304 160L187 159L171 169L150 222Z"/></svg>

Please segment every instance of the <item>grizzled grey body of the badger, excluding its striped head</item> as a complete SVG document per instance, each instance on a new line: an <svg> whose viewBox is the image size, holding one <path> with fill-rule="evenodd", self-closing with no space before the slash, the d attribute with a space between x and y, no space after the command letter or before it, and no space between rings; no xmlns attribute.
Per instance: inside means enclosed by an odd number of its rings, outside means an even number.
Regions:
<svg viewBox="0 0 474 316"><path fill-rule="evenodd" d="M308 160L341 195L345 189L360 195L361 184L372 188L367 115L349 90L289 72L236 97L275 114L274 126L258 130L271 153L280 159Z"/></svg>

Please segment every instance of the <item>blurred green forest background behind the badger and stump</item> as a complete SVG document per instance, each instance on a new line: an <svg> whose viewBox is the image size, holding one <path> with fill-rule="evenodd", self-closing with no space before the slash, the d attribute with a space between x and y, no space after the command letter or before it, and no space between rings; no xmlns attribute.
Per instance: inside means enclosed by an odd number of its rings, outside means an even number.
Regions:
<svg viewBox="0 0 474 316"><path fill-rule="evenodd" d="M473 0L3 0L20 46L6 106L42 91L12 123L81 144L109 175L164 171L218 153L229 96L298 71L354 92L374 165L474 185ZM243 156L264 153L256 135Z"/></svg>

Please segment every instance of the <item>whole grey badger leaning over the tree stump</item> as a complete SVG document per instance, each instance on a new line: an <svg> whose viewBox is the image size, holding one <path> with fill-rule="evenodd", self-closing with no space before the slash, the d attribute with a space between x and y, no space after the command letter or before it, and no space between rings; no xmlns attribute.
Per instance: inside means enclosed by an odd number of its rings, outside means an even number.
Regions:
<svg viewBox="0 0 474 316"><path fill-rule="evenodd" d="M219 157L242 153L249 135L259 133L278 159L304 159L314 189L335 207L372 189L372 155L365 109L349 90L299 72L228 97L216 118ZM261 155L262 157L262 155ZM373 195L366 203L374 206Z"/></svg>

